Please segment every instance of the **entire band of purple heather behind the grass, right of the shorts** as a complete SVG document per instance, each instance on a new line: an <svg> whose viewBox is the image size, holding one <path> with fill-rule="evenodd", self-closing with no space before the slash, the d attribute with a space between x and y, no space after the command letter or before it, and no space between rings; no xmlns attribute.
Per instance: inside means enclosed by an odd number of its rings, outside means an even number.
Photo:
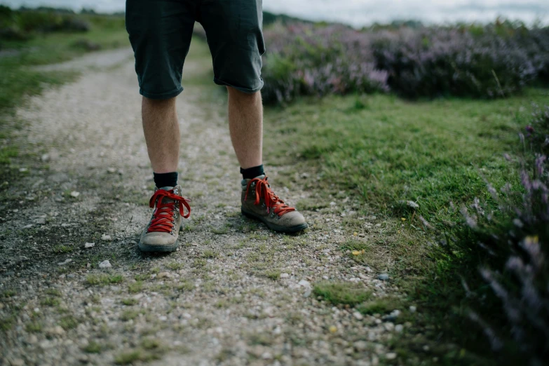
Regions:
<svg viewBox="0 0 549 366"><path fill-rule="evenodd" d="M549 28L509 24L357 31L293 23L265 31L266 102L297 95L505 97L549 82Z"/></svg>

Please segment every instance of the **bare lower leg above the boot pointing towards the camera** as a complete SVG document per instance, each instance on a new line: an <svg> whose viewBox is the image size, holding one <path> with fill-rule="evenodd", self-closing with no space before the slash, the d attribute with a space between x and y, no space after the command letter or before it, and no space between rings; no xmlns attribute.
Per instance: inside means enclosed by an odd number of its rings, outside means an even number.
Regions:
<svg viewBox="0 0 549 366"><path fill-rule="evenodd" d="M152 100L143 97L143 130L153 171L175 172L179 163L179 123L175 98Z"/></svg>

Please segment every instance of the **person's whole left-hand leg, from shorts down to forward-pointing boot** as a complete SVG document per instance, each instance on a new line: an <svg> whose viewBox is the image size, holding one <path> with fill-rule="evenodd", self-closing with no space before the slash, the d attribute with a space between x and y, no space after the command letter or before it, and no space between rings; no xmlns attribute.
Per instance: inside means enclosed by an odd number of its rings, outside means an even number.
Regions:
<svg viewBox="0 0 549 366"><path fill-rule="evenodd" d="M143 95L143 130L157 188L149 201L153 215L138 244L144 252L175 250L182 218L190 215L189 204L177 185L179 125L175 97L183 90L182 68L189 52L196 4L169 0L126 2L126 29Z"/></svg>

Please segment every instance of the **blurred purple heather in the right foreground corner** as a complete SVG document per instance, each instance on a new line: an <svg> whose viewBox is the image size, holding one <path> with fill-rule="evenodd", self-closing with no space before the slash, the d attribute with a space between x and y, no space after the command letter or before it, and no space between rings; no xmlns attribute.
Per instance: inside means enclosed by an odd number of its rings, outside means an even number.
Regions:
<svg viewBox="0 0 549 366"><path fill-rule="evenodd" d="M521 139L521 187L509 185L501 194L488 185L499 204L499 217L484 212L478 200L462 209L469 243L480 245L488 258L480 274L502 306L503 322L487 321L494 309L483 309L480 297L470 318L489 337L505 363L545 365L549 360L549 107L535 106L534 116ZM545 360L545 361L543 361ZM517 364L517 363L515 363Z"/></svg>

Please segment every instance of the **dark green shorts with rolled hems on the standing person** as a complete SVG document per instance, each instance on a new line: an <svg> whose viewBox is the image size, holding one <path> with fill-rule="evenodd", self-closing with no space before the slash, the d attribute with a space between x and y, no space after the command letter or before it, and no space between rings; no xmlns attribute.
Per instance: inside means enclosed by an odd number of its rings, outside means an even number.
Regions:
<svg viewBox="0 0 549 366"><path fill-rule="evenodd" d="M126 0L140 93L168 99L182 92L194 22L206 31L215 83L245 93L260 90L262 0Z"/></svg>

